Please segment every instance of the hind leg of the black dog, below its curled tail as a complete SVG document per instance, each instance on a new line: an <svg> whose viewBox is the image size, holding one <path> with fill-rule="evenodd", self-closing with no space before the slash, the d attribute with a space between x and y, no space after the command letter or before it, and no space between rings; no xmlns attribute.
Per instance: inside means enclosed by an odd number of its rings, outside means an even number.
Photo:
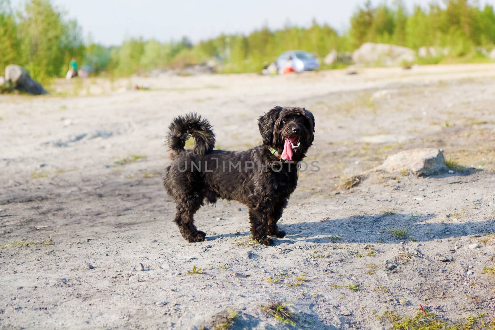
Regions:
<svg viewBox="0 0 495 330"><path fill-rule="evenodd" d="M177 214L174 222L179 227L179 230L188 242L202 242L206 234L198 231L194 225L194 214L201 206L199 198L184 199L177 203Z"/></svg>

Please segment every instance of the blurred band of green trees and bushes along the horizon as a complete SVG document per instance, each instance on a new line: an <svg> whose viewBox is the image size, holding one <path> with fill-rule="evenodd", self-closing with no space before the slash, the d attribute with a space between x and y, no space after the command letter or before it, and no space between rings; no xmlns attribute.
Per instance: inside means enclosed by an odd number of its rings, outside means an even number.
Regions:
<svg viewBox="0 0 495 330"><path fill-rule="evenodd" d="M248 35L220 35L193 45L184 37L170 43L143 38L127 39L120 46L85 43L76 21L50 0L27 0L14 12L9 0L0 0L0 72L15 63L38 80L64 76L72 56L92 73L127 76L154 68L180 68L216 58L222 72L258 72L289 49L304 49L323 58L332 49L352 51L364 42L411 47L448 47L449 56L473 58L476 47L495 45L495 12L490 5L479 8L476 0L442 0L428 8L415 6L408 12L403 2L384 2L374 7L368 0L356 8L349 30L339 34L326 24L313 21L308 28L287 25L267 27Z"/></svg>

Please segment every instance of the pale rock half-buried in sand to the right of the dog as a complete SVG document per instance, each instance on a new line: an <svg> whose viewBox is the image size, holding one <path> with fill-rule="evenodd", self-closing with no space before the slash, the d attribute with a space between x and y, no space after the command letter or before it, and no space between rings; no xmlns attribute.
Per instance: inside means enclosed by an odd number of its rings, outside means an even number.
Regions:
<svg viewBox="0 0 495 330"><path fill-rule="evenodd" d="M407 170L417 176L439 174L448 171L444 154L435 148L409 149L389 156L385 162L375 168L390 173Z"/></svg>

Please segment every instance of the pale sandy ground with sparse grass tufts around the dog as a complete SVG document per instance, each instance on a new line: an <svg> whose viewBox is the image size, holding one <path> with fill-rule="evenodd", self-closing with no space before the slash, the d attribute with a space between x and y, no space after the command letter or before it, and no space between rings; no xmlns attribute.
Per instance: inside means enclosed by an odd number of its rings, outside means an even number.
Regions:
<svg viewBox="0 0 495 330"><path fill-rule="evenodd" d="M135 84L150 90L125 89ZM383 312L414 316L420 304L451 323L495 317L495 275L483 271L495 266L484 239L495 233L495 65L56 90L0 95L1 329L200 329L229 309L231 329L390 329ZM308 160L320 171L300 173L279 222L288 235L240 246L247 209L219 201L196 214L208 240L187 243L161 183L171 118L197 111L217 148L243 150L260 143L256 118L275 104L316 118ZM338 189L387 155L426 146L475 170L373 173ZM193 266L202 274L189 275ZM438 296L448 298L428 299ZM275 301L290 304L296 326L262 311Z"/></svg>

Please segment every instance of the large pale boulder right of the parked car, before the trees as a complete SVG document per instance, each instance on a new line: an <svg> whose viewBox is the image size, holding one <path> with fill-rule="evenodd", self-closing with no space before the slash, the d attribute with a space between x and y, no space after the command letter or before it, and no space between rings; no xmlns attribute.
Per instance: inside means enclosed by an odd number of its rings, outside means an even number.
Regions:
<svg viewBox="0 0 495 330"><path fill-rule="evenodd" d="M414 50L389 44L365 43L352 53L352 61L359 65L400 66L415 60Z"/></svg>

